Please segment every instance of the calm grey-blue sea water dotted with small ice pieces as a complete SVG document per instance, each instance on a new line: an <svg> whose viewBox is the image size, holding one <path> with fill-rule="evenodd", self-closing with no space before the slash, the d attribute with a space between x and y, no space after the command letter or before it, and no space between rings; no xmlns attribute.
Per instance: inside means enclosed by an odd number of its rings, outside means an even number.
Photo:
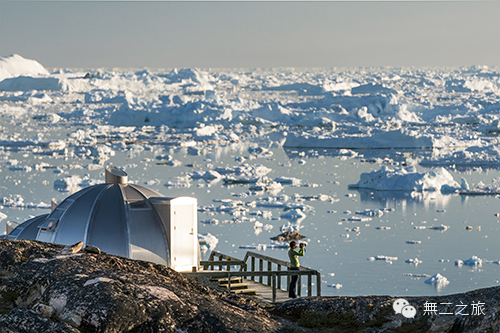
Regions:
<svg viewBox="0 0 500 333"><path fill-rule="evenodd" d="M428 168L418 165L418 158L429 151L412 150L413 160L408 160L398 150L360 150L358 156L352 157L342 155L339 150L271 147L269 152L272 154L252 157L249 146L240 144L194 155L187 148L154 145L151 150L116 151L105 164L123 167L131 182L165 196L193 196L198 199L200 207L213 206L213 211L200 211L198 220L216 220L218 224L200 222L199 233L217 237L214 250L236 258L242 259L249 251L248 247L255 246L250 251L287 260L286 249L258 245L271 244L270 237L278 235L283 225L297 226L308 244L306 255L300 258L301 264L322 274L323 295L435 295L499 284L500 254L496 235L500 217L495 215L500 213L500 208L495 196L371 191L348 187L359 180L361 173L379 170L382 166L396 168L414 163L419 172L428 171ZM169 166L157 159L163 155L171 155L173 160L181 162L180 165ZM182 180L194 171L238 166L242 156L247 158L244 163L250 166L263 165L272 169L267 174L270 179L294 177L300 179L300 185L284 184L281 191L269 193L250 191L250 184L225 185L221 179L200 179L183 187L187 182ZM9 160L22 161L23 165L34 165L44 159L23 151L9 152L8 157ZM89 170L84 165L85 168L80 169L78 165L82 161L71 158L52 158L49 163L50 168L31 172L4 170L0 179L3 197L15 199L17 196L24 203L33 203L34 206L45 203L47 206L52 198L64 199L78 190L78 187L69 191L59 188L55 186L57 180L74 175L86 176L96 182L104 180L104 166L95 165ZM460 172L451 169L450 172L455 180L465 177L469 183L488 183L500 176L498 170L492 169ZM165 186L168 182L170 185ZM319 194L324 195L324 201L304 199ZM287 203L310 207L304 211L304 218L288 220L281 217L285 213L282 208L247 205L269 197L279 201L283 195L289 197ZM217 211L223 202L238 200L248 209L247 212ZM381 210L383 213L381 216L356 214L362 210ZM0 228L4 230L7 220L22 222L47 213L48 209L5 206L1 211L7 215L0 222ZM259 211L265 212L264 216L259 216ZM255 222L267 228L256 228ZM209 254L210 250L203 254L203 259L206 260ZM393 260L370 260L376 256L393 257ZM472 256L483 259L482 264L455 264L455 260L464 261ZM408 259L421 262L405 262ZM424 283L436 273L445 276L449 283ZM305 294L305 285L303 288Z"/></svg>

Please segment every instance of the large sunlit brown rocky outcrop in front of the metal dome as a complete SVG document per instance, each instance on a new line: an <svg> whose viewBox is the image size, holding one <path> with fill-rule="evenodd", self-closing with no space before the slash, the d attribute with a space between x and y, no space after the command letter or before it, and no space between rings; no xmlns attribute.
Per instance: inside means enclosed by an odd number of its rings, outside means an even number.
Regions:
<svg viewBox="0 0 500 333"><path fill-rule="evenodd" d="M0 332L273 332L233 299L162 265L63 246L0 240Z"/></svg>

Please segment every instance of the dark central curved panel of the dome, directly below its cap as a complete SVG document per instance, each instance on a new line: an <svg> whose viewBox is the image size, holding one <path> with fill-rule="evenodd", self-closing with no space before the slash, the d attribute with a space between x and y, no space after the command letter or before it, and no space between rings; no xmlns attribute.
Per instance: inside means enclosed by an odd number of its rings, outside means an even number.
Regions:
<svg viewBox="0 0 500 333"><path fill-rule="evenodd" d="M97 199L91 213L86 244L129 257L127 216L120 185L109 186Z"/></svg>

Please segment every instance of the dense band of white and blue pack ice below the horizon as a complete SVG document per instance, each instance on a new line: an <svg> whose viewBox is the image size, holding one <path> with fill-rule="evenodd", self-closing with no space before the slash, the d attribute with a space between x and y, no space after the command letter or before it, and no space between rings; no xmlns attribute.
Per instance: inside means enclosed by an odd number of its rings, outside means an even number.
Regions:
<svg viewBox="0 0 500 333"><path fill-rule="evenodd" d="M24 113L25 126L92 124L79 129L87 140L144 139L197 152L259 138L303 148L443 148L421 163L493 165L500 159L497 78L497 69L478 66L49 72L13 55L0 58L0 113ZM21 139L0 138L37 144Z"/></svg>

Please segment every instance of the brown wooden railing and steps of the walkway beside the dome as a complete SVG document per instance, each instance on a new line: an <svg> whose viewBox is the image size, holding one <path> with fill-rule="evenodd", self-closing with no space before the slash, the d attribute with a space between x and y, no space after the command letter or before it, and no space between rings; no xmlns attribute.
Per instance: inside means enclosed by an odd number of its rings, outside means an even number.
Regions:
<svg viewBox="0 0 500 333"><path fill-rule="evenodd" d="M218 260L215 260L218 258ZM250 259L250 265L247 264ZM282 280L286 277L285 290L288 290L292 275L298 275L297 295L301 294L301 277L307 276L307 296L312 296L312 280L316 277L316 295L321 296L321 273L318 271L300 267L299 270L289 270L290 263L276 258L268 257L260 253L248 251L243 260L213 251L209 260L201 261L200 266L203 271L183 273L188 277L197 278L200 276L209 276L213 278L227 278L228 289L231 289L232 277L243 277L272 288L272 302L276 303L276 290L282 289ZM239 266L238 271L232 271L231 268ZM286 267L286 270L283 268ZM217 270L215 270L217 268ZM225 268L225 270L223 269Z"/></svg>

